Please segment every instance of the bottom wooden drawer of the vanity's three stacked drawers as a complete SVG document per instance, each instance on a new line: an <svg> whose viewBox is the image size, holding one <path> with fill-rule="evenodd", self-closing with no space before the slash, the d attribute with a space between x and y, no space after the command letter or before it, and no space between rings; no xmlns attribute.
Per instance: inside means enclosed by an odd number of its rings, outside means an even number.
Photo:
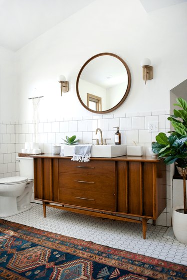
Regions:
<svg viewBox="0 0 187 280"><path fill-rule="evenodd" d="M61 189L59 192L59 202L106 211L116 210L116 196L114 194L88 190Z"/></svg>

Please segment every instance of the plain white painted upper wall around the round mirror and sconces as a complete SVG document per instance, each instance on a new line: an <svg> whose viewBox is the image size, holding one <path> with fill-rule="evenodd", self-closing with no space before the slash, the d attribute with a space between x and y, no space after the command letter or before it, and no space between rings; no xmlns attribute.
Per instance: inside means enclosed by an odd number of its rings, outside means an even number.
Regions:
<svg viewBox="0 0 187 280"><path fill-rule="evenodd" d="M186 2L147 13L139 0L96 0L73 14L16 53L19 119L32 118L34 88L44 96L41 118L91 115L79 104L76 78L88 58L106 51L121 56L132 75L129 96L115 113L169 109L170 89L186 79L186 14ZM144 57L154 66L147 85ZM70 81L62 97L59 74Z"/></svg>

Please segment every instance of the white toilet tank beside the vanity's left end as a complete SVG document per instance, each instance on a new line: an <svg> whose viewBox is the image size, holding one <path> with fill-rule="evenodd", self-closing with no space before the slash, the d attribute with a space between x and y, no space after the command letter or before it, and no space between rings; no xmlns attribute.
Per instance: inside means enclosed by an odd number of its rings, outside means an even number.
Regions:
<svg viewBox="0 0 187 280"><path fill-rule="evenodd" d="M34 179L33 157L16 157L16 161L19 162L19 172L21 177L27 177L28 179Z"/></svg>

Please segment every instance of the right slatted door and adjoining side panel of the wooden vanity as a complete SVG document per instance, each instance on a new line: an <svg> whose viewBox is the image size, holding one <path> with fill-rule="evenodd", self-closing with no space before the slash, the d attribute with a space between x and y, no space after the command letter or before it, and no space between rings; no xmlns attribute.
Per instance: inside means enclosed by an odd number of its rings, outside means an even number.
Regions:
<svg viewBox="0 0 187 280"><path fill-rule="evenodd" d="M118 212L157 219L166 207L163 162L118 162Z"/></svg>

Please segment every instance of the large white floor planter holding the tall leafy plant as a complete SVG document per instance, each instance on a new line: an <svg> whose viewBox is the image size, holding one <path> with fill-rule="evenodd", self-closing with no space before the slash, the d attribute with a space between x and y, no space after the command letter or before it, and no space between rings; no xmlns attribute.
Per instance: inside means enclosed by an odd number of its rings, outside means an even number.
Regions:
<svg viewBox="0 0 187 280"><path fill-rule="evenodd" d="M180 242L187 244L187 214L184 214L184 206L173 208L172 224L176 238Z"/></svg>

